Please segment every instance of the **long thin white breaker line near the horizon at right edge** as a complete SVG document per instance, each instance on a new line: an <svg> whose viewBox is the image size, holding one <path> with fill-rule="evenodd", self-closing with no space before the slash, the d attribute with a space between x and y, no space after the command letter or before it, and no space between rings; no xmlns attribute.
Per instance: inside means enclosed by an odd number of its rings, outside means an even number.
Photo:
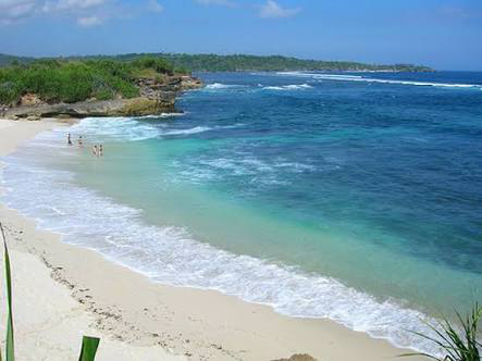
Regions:
<svg viewBox="0 0 482 361"><path fill-rule="evenodd" d="M477 88L482 90L482 85L479 84L450 84L450 83L394 80L394 79L369 78L369 77L363 77L361 75L317 74L317 73L300 73L300 72L279 72L276 74L310 77L310 78L325 79L325 80L367 82L367 83L401 84L401 85L432 86L432 87L447 87L447 88Z"/></svg>

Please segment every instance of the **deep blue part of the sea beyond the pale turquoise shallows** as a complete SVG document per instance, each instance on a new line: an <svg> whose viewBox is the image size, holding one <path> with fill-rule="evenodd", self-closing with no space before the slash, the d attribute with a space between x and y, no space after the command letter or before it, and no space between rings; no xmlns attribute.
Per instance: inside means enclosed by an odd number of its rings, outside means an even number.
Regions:
<svg viewBox="0 0 482 361"><path fill-rule="evenodd" d="M465 72L367 76L482 84L481 73ZM240 125L191 136L217 145L186 154L183 165L212 169L207 182L299 222L337 224L354 235L359 227L375 229L366 241L482 272L482 86L271 74L201 77L228 87L187 95L180 107L189 115L180 123L186 128ZM265 89L287 84L311 88ZM209 165L219 159L240 167L256 159L274 171L244 174L237 166Z"/></svg>

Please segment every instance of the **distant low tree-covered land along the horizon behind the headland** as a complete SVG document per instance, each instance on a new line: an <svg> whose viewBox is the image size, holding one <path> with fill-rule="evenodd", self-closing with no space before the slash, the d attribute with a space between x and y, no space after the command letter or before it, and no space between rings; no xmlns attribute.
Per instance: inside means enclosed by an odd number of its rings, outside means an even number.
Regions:
<svg viewBox="0 0 482 361"><path fill-rule="evenodd" d="M304 60L282 55L248 55L248 54L186 54L186 53L128 53L120 55L86 55L69 57L67 60L110 59L133 61L141 57L162 58L176 69L184 72L246 72L246 71L325 71L325 72L433 72L433 69L413 64L367 64L351 61ZM12 61L25 63L34 58L16 58L0 54L0 65Z"/></svg>

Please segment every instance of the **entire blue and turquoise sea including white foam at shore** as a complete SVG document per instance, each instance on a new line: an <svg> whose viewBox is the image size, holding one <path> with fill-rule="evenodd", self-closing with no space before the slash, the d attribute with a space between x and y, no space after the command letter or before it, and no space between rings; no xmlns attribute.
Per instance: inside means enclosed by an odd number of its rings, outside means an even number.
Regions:
<svg viewBox="0 0 482 361"><path fill-rule="evenodd" d="M409 331L482 301L482 73L198 75L185 114L2 158L0 200L155 282L436 352Z"/></svg>

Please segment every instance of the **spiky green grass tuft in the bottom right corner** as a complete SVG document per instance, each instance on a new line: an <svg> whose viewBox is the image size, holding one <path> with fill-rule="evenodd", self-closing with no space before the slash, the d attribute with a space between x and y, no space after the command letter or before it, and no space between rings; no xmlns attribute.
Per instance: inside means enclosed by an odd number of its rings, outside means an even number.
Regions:
<svg viewBox="0 0 482 361"><path fill-rule="evenodd" d="M438 322L437 327L428 324L440 339L415 333L420 337L435 343L442 350L444 350L446 354L443 358L436 358L427 353L405 353L401 354L401 357L424 356L437 361L480 361L482 344L478 339L481 336L479 332L479 322L482 319L482 307L475 303L472 311L465 318L461 316L459 312L456 312L456 314L461 325L460 332L456 326L450 324L447 319L444 319Z"/></svg>

